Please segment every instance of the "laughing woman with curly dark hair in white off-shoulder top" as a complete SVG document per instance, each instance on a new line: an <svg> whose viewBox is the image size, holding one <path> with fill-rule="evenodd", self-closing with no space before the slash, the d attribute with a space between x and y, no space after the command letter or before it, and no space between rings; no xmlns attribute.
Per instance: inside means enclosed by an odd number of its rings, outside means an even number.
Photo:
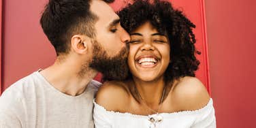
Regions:
<svg viewBox="0 0 256 128"><path fill-rule="evenodd" d="M216 127L212 99L194 77L195 25L166 1L135 1L119 16L131 35L131 76L99 89L95 127Z"/></svg>

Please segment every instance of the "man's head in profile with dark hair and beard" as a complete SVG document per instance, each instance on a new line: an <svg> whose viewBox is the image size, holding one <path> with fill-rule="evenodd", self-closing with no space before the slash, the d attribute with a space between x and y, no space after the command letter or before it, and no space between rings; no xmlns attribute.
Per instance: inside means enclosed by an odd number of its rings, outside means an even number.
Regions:
<svg viewBox="0 0 256 128"><path fill-rule="evenodd" d="M125 43L129 42L130 37L121 27L119 17L107 4L112 1L114 0L49 1L40 23L54 46L57 57L73 57L70 54L76 54L78 59L84 59L81 68L89 68L91 65L97 71L103 70L103 73L112 71L114 67L99 65L102 61L113 63L119 59L125 62ZM84 66L85 64L88 66ZM104 75L111 77L109 74Z"/></svg>

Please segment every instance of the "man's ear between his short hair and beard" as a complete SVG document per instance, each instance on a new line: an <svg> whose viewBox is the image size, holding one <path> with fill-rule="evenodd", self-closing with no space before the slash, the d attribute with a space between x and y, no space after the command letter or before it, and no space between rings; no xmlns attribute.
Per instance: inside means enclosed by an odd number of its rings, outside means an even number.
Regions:
<svg viewBox="0 0 256 128"><path fill-rule="evenodd" d="M71 48L78 54L84 54L88 50L89 37L85 35L73 35L71 37Z"/></svg>

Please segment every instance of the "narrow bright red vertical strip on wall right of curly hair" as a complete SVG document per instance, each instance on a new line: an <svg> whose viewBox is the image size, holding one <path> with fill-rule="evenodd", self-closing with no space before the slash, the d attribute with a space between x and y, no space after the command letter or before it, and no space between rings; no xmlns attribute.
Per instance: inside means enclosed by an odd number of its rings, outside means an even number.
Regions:
<svg viewBox="0 0 256 128"><path fill-rule="evenodd" d="M206 82L207 82L207 90L211 95L211 91L210 91L210 69L209 69L209 56L208 56L208 42L207 42L207 29L206 29L206 10L205 10L205 3L204 0L201 0L200 2L200 6L201 6L201 14L202 14L202 31L203 31L203 39L204 42L204 63L206 64Z"/></svg>

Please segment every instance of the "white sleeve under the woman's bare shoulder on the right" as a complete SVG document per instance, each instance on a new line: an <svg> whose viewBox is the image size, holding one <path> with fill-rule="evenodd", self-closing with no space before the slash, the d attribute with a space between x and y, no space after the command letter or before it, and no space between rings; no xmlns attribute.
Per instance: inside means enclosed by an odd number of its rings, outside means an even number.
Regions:
<svg viewBox="0 0 256 128"><path fill-rule="evenodd" d="M214 113L212 99L210 99L210 103L208 103L205 108L199 110L199 114L197 115L197 119L192 128L216 128L216 118Z"/></svg>

